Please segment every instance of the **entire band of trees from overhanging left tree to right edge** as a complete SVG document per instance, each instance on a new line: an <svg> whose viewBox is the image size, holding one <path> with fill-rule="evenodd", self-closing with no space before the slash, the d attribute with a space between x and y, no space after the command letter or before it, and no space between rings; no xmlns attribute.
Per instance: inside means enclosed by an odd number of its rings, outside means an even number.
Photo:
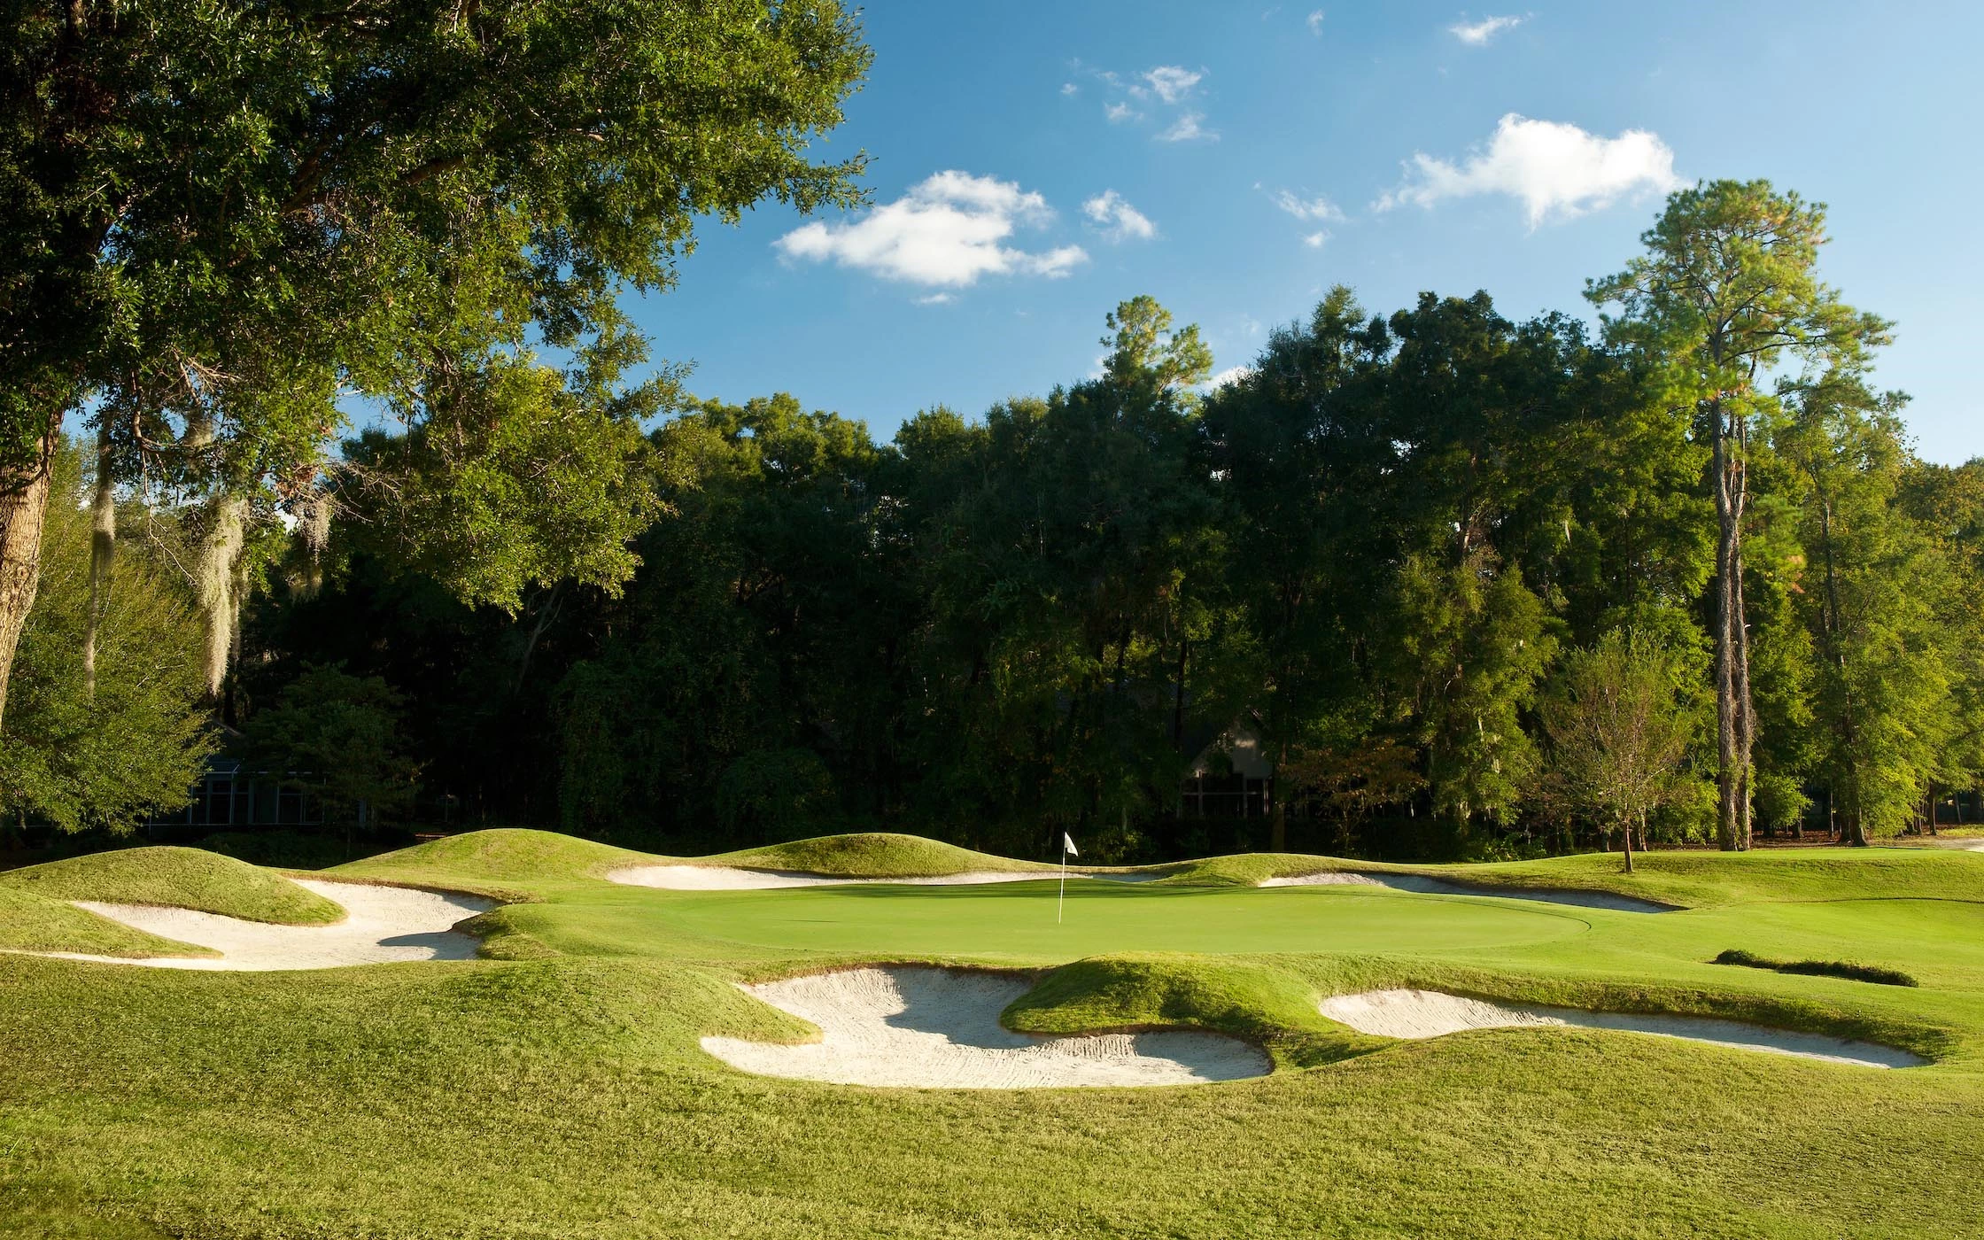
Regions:
<svg viewBox="0 0 1984 1240"><path fill-rule="evenodd" d="M617 304L696 216L859 200L833 4L6 22L16 821L216 746L345 817L1105 857L1865 841L1980 784L1984 464L1913 456L1798 194L1673 194L1595 329L1333 290L1206 391L1133 298L1101 375L877 442L694 401ZM1262 817L1192 819L1240 734Z"/></svg>

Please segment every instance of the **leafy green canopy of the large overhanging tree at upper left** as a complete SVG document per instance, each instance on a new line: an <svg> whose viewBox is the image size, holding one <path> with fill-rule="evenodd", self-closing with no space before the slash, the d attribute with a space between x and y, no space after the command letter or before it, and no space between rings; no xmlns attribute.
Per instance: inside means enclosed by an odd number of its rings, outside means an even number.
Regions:
<svg viewBox="0 0 1984 1240"><path fill-rule="evenodd" d="M673 284L698 216L859 200L861 155L807 157L869 63L833 0L0 22L0 484L85 409L123 480L315 524L359 395L405 423L367 478L411 558L512 609L625 579L647 510L639 411L556 399L524 345L619 375L617 296Z"/></svg>

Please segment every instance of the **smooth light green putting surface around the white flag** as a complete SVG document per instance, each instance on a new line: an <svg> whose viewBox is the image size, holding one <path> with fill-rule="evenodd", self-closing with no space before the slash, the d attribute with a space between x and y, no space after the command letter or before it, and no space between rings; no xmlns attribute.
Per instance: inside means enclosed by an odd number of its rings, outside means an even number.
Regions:
<svg viewBox="0 0 1984 1240"><path fill-rule="evenodd" d="M1446 952L1583 934L1635 917L1371 887L1180 889L1054 883L641 893L623 915L780 950L1065 962L1105 952ZM1643 915L1641 915L1643 917ZM554 930L556 934L556 930Z"/></svg>

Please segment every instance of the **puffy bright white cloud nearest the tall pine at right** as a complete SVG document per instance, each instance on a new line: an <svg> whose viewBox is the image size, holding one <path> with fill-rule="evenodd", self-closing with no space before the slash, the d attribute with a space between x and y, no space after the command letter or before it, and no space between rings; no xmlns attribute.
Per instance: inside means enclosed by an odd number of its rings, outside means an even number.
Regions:
<svg viewBox="0 0 1984 1240"><path fill-rule="evenodd" d="M1619 198L1678 188L1674 151L1645 129L1597 137L1577 125L1532 121L1508 113L1486 149L1460 165L1417 153L1405 163L1405 183L1377 200L1377 210L1407 202L1432 206L1442 198L1510 194L1522 198L1530 226L1571 218Z"/></svg>

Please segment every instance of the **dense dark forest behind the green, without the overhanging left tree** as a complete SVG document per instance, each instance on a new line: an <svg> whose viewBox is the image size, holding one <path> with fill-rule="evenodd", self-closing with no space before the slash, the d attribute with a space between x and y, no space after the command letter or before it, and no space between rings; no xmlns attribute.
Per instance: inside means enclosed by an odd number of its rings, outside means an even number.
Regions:
<svg viewBox="0 0 1984 1240"><path fill-rule="evenodd" d="M1676 208L1718 192L1815 210L1728 183ZM1756 829L1928 823L1984 774L1984 462L1911 454L1879 341L1702 395L1647 321L1510 321L1486 294L1377 315L1339 288L1204 391L1196 329L1135 298L1099 377L889 442L790 395L694 403L629 456L625 589L522 573L512 607L436 567L472 512L429 510L446 528L411 548L407 490L353 474L327 540L266 556L238 722L308 746L310 718L387 716L403 821L679 849L1712 841L1734 460ZM1242 734L1274 772L1258 815L1186 807Z"/></svg>

